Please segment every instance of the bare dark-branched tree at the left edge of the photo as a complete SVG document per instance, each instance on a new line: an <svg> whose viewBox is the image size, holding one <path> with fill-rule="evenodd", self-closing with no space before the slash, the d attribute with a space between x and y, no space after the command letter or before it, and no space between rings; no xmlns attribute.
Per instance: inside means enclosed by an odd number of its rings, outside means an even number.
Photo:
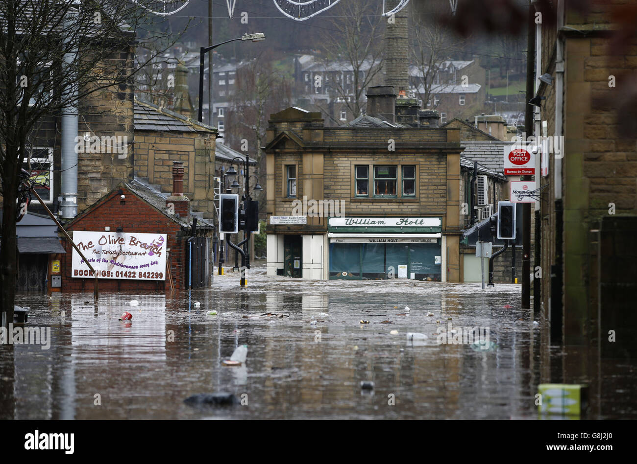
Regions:
<svg viewBox="0 0 637 464"><path fill-rule="evenodd" d="M16 202L29 136L41 118L132 87L140 67L132 58L135 41L165 35L153 32L159 18L144 1L0 0L0 311L6 324L13 321Z"/></svg>

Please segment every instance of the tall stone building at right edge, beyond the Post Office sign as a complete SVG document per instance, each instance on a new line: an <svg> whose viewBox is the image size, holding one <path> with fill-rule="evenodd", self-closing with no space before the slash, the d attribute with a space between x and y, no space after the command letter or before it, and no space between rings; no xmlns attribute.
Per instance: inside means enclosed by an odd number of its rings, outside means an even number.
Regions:
<svg viewBox="0 0 637 464"><path fill-rule="evenodd" d="M557 27L537 29L536 74L552 78L536 81L545 99L534 131L552 142L540 176L545 343L595 348L601 358L634 356L637 336L637 257L629 244L637 232L637 144L634 133L620 130L628 116L619 111L637 43L618 41L612 19L612 9L624 6L594 3L584 14L559 1ZM610 330L617 342L608 342ZM569 368L564 362L564 382L598 375L596 362L580 360L585 350L569 353L576 359Z"/></svg>

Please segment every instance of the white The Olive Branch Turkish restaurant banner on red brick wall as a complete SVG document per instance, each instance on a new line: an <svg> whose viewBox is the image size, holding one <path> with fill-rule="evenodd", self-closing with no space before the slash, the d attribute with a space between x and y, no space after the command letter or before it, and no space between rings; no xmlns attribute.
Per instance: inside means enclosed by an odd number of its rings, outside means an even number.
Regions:
<svg viewBox="0 0 637 464"><path fill-rule="evenodd" d="M73 241L98 278L166 280L166 234L76 230ZM94 277L75 248L71 276Z"/></svg>

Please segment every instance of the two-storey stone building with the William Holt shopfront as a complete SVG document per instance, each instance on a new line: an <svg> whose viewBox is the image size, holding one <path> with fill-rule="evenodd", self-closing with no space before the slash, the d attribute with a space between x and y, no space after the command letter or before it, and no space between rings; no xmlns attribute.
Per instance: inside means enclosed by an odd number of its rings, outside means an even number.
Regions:
<svg viewBox="0 0 637 464"><path fill-rule="evenodd" d="M393 268L457 282L459 130L406 111L393 87L367 97L369 114L341 127L299 108L271 115L268 274L382 279Z"/></svg>

